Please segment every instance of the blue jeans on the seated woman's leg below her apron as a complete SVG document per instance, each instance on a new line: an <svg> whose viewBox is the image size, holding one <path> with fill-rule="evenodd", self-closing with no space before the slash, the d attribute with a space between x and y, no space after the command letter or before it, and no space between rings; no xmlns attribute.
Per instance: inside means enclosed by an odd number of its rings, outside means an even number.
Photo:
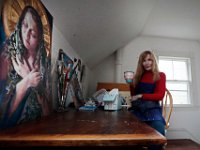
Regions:
<svg viewBox="0 0 200 150"><path fill-rule="evenodd" d="M163 123L163 121L154 120L154 121L145 121L145 123L165 136L165 124ZM150 146L148 146L148 149L149 150L162 150L163 145L150 145Z"/></svg>

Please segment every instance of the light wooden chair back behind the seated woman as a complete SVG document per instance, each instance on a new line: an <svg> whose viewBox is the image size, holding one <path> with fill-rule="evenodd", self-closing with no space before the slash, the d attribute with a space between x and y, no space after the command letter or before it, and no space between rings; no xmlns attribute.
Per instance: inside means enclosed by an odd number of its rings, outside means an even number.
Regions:
<svg viewBox="0 0 200 150"><path fill-rule="evenodd" d="M168 89L166 89L165 96L161 101L162 114L166 122L165 129L169 128L169 120L173 110L173 98Z"/></svg>

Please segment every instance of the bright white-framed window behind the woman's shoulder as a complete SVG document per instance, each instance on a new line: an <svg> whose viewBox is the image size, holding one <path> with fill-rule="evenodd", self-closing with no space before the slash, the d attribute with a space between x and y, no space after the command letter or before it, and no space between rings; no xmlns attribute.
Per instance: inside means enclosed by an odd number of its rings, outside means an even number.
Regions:
<svg viewBox="0 0 200 150"><path fill-rule="evenodd" d="M190 59L159 56L159 69L166 74L166 87L173 96L174 104L191 104Z"/></svg>

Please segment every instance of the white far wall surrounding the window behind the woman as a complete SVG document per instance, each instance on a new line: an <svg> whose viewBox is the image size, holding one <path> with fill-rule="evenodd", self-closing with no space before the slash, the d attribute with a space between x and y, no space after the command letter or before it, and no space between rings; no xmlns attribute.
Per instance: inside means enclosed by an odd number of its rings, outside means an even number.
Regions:
<svg viewBox="0 0 200 150"><path fill-rule="evenodd" d="M200 76L200 68L198 66L200 58L199 42L159 37L138 37L119 50L122 53L121 80L119 82L125 82L123 79L124 71L135 71L139 54L147 49L153 49L157 56L184 56L191 58L193 106L174 108L170 120L170 128L166 136L168 139L187 138L200 143L200 121L198 119L200 115L200 81L198 80ZM115 54L108 57L92 72L95 75L96 82L113 82L115 78L113 75L116 72ZM92 89L93 87L90 86L90 88Z"/></svg>

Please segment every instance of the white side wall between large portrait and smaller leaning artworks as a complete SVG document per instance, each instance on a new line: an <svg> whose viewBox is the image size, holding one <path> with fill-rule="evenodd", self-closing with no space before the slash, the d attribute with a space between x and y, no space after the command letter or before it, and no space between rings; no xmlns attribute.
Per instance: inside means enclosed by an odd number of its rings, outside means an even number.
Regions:
<svg viewBox="0 0 200 150"><path fill-rule="evenodd" d="M53 26L53 34L52 34L52 54L51 54L51 77L52 77L52 93L53 93L53 107L56 106L57 98L57 75L56 75L56 60L58 58L59 49L63 49L63 51L73 60L74 58L80 58L78 54L73 50L67 40L63 37L57 27ZM82 64L84 64L83 60L81 60ZM86 97L88 93L88 84L89 84L89 75L90 69L86 66L81 88L83 91L83 96Z"/></svg>

